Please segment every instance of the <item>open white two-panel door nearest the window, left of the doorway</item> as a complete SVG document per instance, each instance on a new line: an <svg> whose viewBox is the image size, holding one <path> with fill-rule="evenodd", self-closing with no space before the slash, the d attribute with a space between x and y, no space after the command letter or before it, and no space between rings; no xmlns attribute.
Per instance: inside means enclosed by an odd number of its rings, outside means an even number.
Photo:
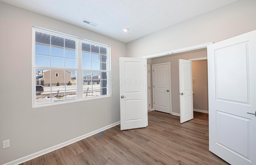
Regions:
<svg viewBox="0 0 256 165"><path fill-rule="evenodd" d="M121 130L148 126L146 60L120 58Z"/></svg>

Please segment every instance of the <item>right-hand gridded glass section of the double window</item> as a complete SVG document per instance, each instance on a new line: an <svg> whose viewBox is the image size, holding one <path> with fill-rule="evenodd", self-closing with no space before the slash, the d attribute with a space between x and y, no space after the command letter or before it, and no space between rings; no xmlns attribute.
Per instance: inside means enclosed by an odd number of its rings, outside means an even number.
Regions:
<svg viewBox="0 0 256 165"><path fill-rule="evenodd" d="M82 42L82 71L84 97L108 94L106 48Z"/></svg>

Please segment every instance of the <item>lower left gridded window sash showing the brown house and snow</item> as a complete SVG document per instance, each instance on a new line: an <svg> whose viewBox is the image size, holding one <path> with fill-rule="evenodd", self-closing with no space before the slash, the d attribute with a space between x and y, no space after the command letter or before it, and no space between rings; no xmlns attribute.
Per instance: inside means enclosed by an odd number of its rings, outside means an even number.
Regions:
<svg viewBox="0 0 256 165"><path fill-rule="evenodd" d="M38 68L36 72L37 104L77 99L76 70Z"/></svg>

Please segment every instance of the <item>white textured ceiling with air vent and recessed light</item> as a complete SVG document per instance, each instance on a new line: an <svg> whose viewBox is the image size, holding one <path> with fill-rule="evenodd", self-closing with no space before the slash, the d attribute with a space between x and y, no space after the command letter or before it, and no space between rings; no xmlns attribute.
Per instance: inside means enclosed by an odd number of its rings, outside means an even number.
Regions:
<svg viewBox="0 0 256 165"><path fill-rule="evenodd" d="M130 42L237 0L0 0ZM90 20L94 27L82 22ZM128 32L122 29L129 28Z"/></svg>

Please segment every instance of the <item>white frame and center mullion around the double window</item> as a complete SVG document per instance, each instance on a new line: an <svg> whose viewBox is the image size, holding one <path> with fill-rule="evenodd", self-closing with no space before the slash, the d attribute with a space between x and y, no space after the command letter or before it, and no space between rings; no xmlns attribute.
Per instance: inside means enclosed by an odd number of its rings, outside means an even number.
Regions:
<svg viewBox="0 0 256 165"><path fill-rule="evenodd" d="M77 85L77 93L76 93L76 99L72 100L63 100L63 101L56 101L56 102L50 102L50 103L41 103L41 104L36 104L36 79L35 79L35 72L36 68L44 68L44 69L58 69L54 67L38 67L35 66L35 32L43 32L46 34L52 34L64 38L70 38L72 40L76 41L76 66L77 68L66 68L65 70L76 70L76 85ZM100 96L94 96L94 97L83 97L83 72L82 72L82 42L86 42L88 44L92 45L97 45L103 48L107 49L107 70L104 72L108 73L108 94L107 95L100 95ZM86 40L84 38L79 38L76 36L71 36L68 34L56 32L53 30L48 30L40 27L33 26L32 27L32 107L45 107L45 106L50 106L50 105L58 105L58 104L64 104L64 103L71 103L71 102L77 102L77 101L86 101L86 100L91 100L91 99L100 99L100 98L106 98L106 97L111 97L111 54L110 54L110 46L101 44L98 42L93 42L90 40ZM96 70L91 70L92 72L97 72ZM55 75L56 76L56 75Z"/></svg>

